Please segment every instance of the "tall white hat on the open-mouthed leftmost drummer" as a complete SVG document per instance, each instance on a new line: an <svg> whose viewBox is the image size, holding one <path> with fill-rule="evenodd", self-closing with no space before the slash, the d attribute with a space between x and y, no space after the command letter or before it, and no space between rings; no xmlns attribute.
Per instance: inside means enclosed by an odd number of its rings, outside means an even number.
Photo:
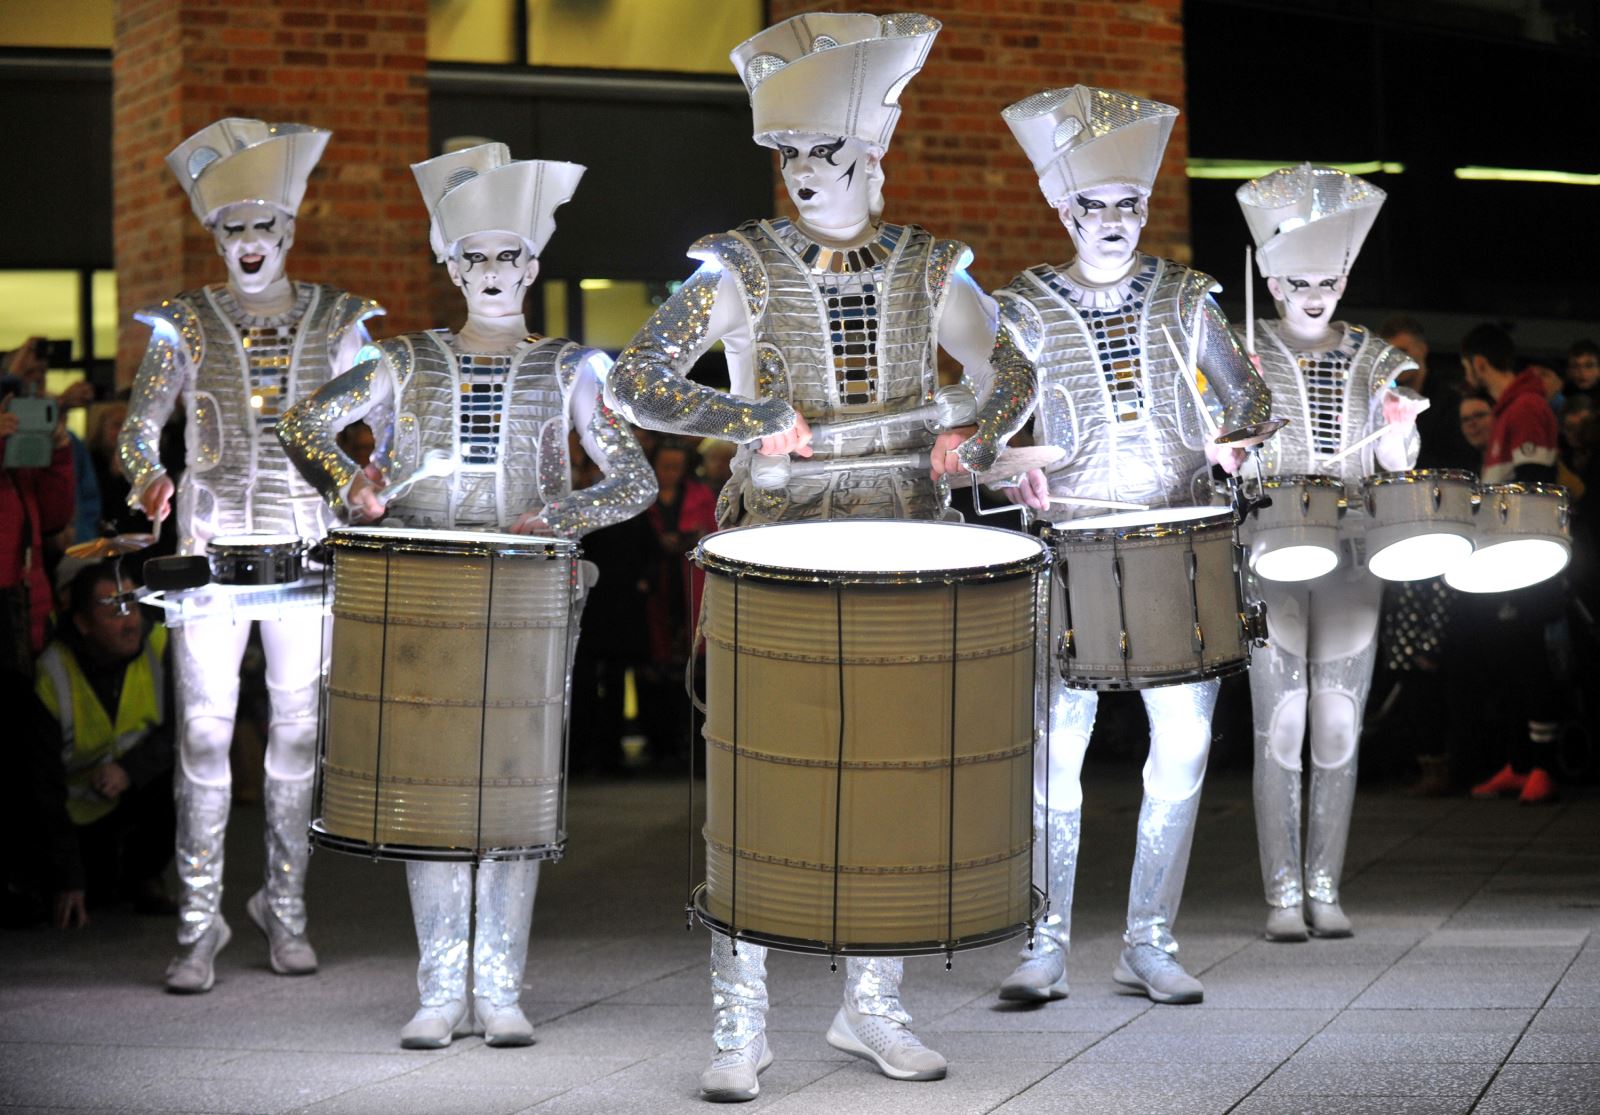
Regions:
<svg viewBox="0 0 1600 1115"><path fill-rule="evenodd" d="M294 216L331 134L304 123L227 117L173 147L166 166L202 222L240 202L274 205Z"/></svg>

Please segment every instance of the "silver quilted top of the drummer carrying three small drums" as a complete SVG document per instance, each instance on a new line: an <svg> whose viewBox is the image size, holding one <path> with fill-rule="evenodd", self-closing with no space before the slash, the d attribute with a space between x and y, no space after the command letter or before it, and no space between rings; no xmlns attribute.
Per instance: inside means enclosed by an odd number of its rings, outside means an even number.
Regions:
<svg viewBox="0 0 1600 1115"><path fill-rule="evenodd" d="M1243 336L1242 328L1235 334ZM1416 363L1358 325L1342 328L1339 346L1312 354L1291 349L1278 322L1256 322L1256 349L1261 376L1272 390L1272 416L1290 419L1261 448L1259 459L1267 475L1322 474L1336 477L1354 494L1362 477L1379 467L1374 446L1338 462L1330 464L1330 458L1384 424L1384 389ZM1419 448L1421 438L1413 427L1405 467L1416 464ZM1360 514L1358 501L1350 504Z"/></svg>

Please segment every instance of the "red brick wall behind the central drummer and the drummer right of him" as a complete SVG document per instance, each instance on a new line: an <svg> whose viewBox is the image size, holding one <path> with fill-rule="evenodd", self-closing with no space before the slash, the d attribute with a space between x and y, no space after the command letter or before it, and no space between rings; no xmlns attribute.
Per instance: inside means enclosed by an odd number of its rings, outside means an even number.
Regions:
<svg viewBox="0 0 1600 1115"><path fill-rule="evenodd" d="M1072 256L1038 192L1034 168L1000 109L1040 90L1099 85L1184 107L1181 0L904 0L885 8L939 19L928 64L901 98L904 112L883 162L885 214L965 240L973 275L998 286L1037 262ZM837 0L771 0L773 21L842 11ZM1179 115L1150 198L1139 246L1189 261L1189 131ZM792 206L778 179L779 211Z"/></svg>

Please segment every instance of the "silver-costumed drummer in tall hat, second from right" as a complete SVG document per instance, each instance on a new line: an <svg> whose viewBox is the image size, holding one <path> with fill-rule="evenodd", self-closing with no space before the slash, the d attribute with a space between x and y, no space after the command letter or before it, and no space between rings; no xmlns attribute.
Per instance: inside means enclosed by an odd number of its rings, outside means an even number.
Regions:
<svg viewBox="0 0 1600 1115"><path fill-rule="evenodd" d="M1155 101L1082 85L1046 90L1003 112L1077 248L1070 266L1030 267L997 294L1021 322L1019 338L1038 365L1034 440L1067 454L1046 470L1053 496L1152 507L1194 504L1194 482L1208 482L1211 462L1230 470L1240 462L1237 450L1219 453L1211 443L1197 394L1208 410L1219 411L1221 429L1266 418L1266 387L1211 299L1216 282L1136 250L1176 115ZM1189 366L1173 355L1168 334ZM1190 374L1195 365L1203 382ZM1074 514L1083 512L1066 504L1054 506L1050 517ZM1051 603L1058 616L1061 606L1058 585ZM1034 949L1022 952L1022 963L1002 984L1006 1000L1067 995L1083 801L1078 774L1099 694L1069 689L1059 677L1048 689L1048 747L1038 750L1034 782L1034 848L1050 915ZM1126 947L1114 977L1158 1003L1194 1003L1203 995L1200 981L1178 963L1171 926L1189 865L1216 694L1216 680L1142 693L1150 757Z"/></svg>

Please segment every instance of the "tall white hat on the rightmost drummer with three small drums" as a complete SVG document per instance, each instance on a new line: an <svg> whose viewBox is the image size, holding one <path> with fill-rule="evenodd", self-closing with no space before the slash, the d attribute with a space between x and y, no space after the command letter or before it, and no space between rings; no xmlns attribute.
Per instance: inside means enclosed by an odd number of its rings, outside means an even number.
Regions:
<svg viewBox="0 0 1600 1115"><path fill-rule="evenodd" d="M1285 166L1234 194L1262 275L1349 275L1384 194L1333 166Z"/></svg>

